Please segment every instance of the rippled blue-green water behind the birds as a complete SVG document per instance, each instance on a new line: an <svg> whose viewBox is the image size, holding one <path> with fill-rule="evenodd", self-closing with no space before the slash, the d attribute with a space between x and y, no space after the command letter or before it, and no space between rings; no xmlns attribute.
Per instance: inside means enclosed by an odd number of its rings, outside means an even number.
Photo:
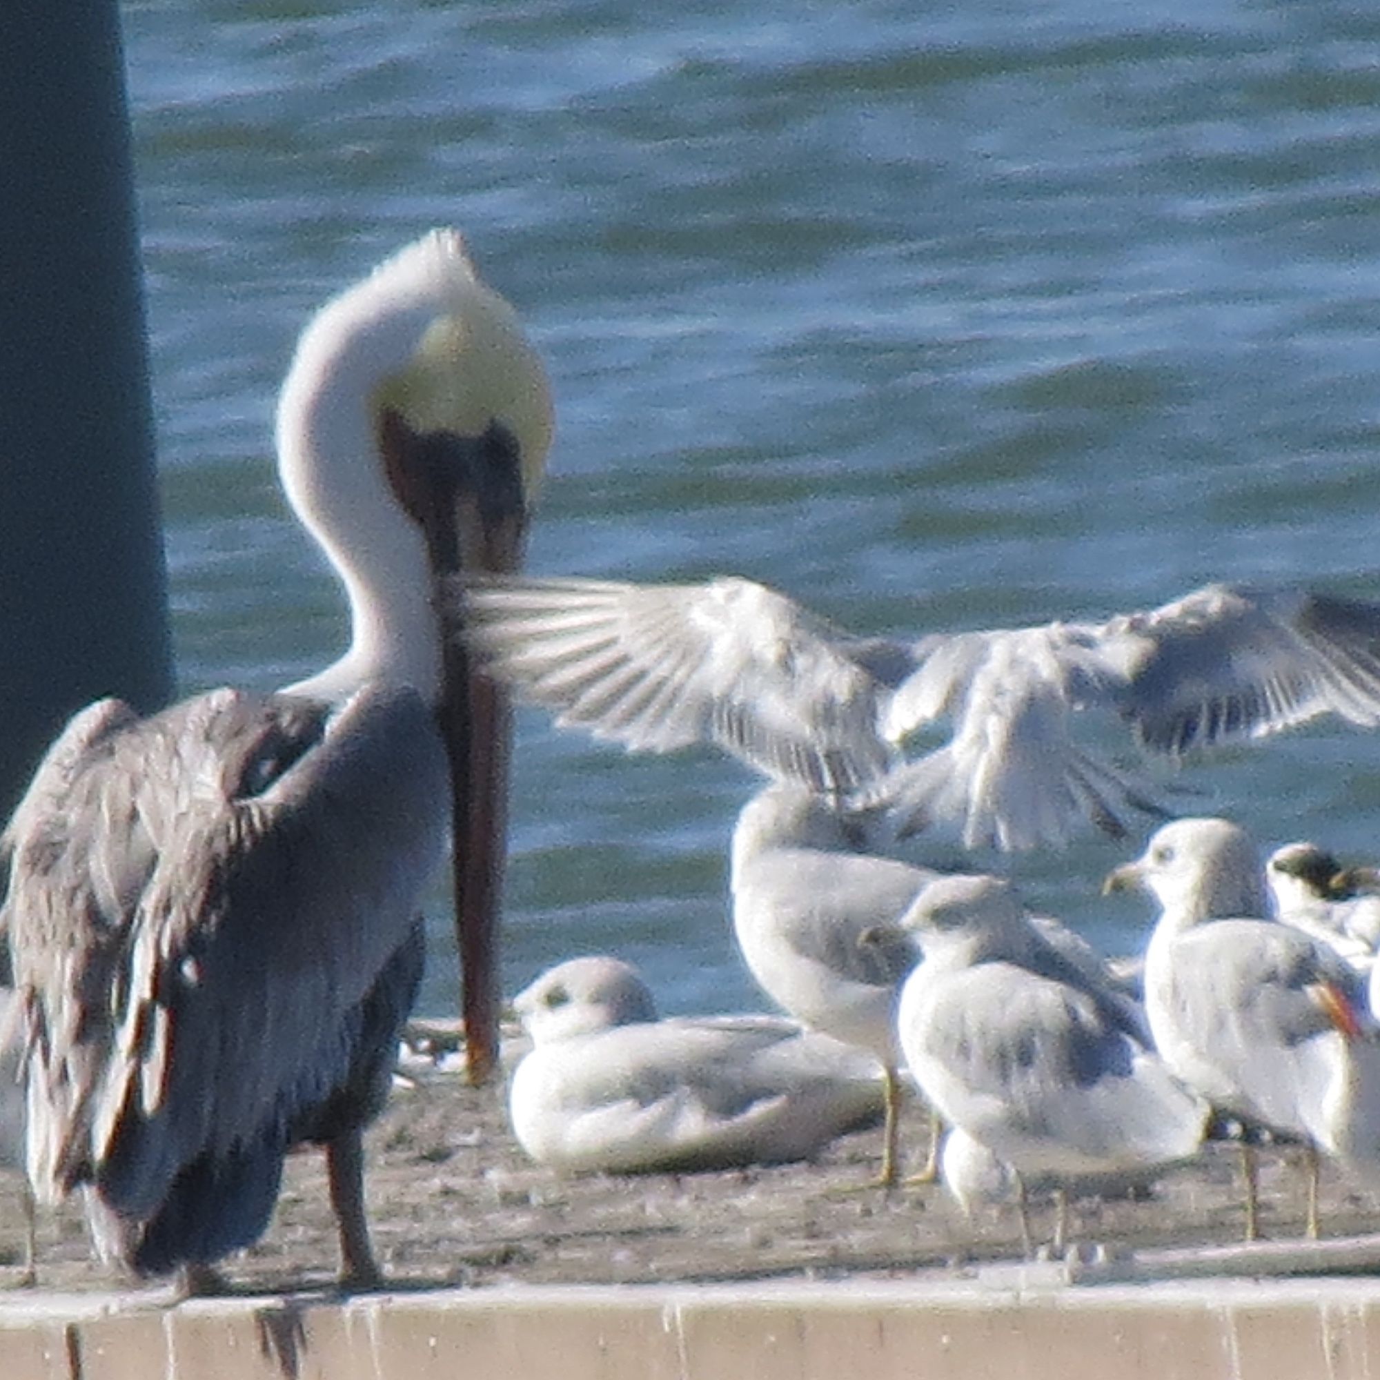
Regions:
<svg viewBox="0 0 1380 1380"><path fill-rule="evenodd" d="M1380 598L1380 11L627 0L124 7L184 689L268 689L344 613L270 418L326 295L458 225L558 404L540 571L765 578L919 633L1209 578ZM640 962L760 1005L724 845L753 778L519 720L509 985ZM1179 778L1373 856L1380 740ZM1138 842L1138 840L1137 840ZM1009 864L1108 948L1127 847ZM983 865L987 860L978 860ZM422 1005L454 1005L444 898Z"/></svg>

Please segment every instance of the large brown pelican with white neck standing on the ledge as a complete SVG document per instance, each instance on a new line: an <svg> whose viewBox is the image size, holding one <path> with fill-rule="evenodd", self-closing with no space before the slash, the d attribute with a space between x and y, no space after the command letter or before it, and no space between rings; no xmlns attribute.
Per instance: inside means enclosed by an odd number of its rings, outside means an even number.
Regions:
<svg viewBox="0 0 1380 1380"><path fill-rule="evenodd" d="M43 1201L86 1190L105 1259L210 1283L306 1141L326 1147L342 1282L378 1279L360 1134L421 974L448 780L482 885L500 818L501 707L454 684L437 578L515 566L549 435L541 364L460 236L403 250L310 322L277 411L349 650L277 694L146 719L101 701L48 749L6 832L0 922L29 1177Z"/></svg>

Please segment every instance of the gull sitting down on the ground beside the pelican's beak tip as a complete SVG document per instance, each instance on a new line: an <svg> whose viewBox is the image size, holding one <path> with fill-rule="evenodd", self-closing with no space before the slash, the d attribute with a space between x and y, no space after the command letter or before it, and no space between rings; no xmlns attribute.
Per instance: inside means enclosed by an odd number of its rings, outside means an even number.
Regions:
<svg viewBox="0 0 1380 1380"><path fill-rule="evenodd" d="M553 1169L809 1159L882 1111L862 1052L773 1016L657 1020L651 992L615 958L560 963L513 1006L533 1049L513 1071L509 1119Z"/></svg>

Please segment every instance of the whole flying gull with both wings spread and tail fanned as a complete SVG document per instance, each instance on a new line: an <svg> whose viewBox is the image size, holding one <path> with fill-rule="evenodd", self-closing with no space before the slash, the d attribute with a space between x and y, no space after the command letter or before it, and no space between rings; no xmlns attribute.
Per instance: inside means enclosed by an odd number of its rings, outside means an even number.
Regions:
<svg viewBox="0 0 1380 1380"><path fill-rule="evenodd" d="M1323 713L1380 723L1380 604L1208 585L1105 622L856 638L765 585L501 578L457 592L489 669L633 751L712 742L776 780L889 805L967 847L1122 836L1150 788L1075 741L1079 711L1177 758ZM908 762L897 747L948 720ZM1159 811L1163 813L1163 811Z"/></svg>

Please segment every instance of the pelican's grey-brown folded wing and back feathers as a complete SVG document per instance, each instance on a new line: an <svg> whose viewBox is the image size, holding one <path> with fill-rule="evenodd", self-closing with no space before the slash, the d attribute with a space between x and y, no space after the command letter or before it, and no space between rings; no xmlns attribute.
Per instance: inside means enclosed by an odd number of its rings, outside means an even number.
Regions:
<svg viewBox="0 0 1380 1380"><path fill-rule="evenodd" d="M15 816L4 908L29 1172L148 1217L195 1162L280 1155L351 1075L443 847L444 763L421 698L373 689L337 712L221 690L68 737Z"/></svg>

